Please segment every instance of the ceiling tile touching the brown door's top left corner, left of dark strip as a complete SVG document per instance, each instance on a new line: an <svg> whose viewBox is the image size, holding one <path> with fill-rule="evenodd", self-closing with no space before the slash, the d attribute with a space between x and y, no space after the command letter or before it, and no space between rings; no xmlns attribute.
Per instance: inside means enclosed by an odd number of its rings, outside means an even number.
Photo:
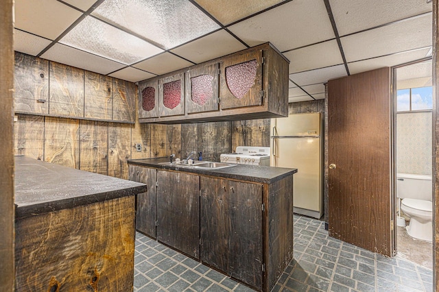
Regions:
<svg viewBox="0 0 439 292"><path fill-rule="evenodd" d="M293 80L300 86L324 83L328 80L346 76L344 65L337 65L322 69L294 73L289 75L289 79Z"/></svg>

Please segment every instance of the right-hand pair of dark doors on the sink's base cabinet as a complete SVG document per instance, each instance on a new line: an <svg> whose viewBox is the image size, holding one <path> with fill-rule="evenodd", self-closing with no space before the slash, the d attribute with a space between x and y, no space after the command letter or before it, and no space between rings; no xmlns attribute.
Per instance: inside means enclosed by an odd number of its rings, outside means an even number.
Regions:
<svg viewBox="0 0 439 292"><path fill-rule="evenodd" d="M201 177L200 187L202 263L261 287L262 184Z"/></svg>

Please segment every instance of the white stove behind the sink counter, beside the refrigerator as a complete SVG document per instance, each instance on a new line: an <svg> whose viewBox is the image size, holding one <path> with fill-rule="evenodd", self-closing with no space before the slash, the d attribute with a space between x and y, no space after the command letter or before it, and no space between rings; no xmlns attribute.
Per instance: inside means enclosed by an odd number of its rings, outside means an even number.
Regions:
<svg viewBox="0 0 439 292"><path fill-rule="evenodd" d="M270 166L270 147L238 146L235 153L221 154L219 159L237 165Z"/></svg>

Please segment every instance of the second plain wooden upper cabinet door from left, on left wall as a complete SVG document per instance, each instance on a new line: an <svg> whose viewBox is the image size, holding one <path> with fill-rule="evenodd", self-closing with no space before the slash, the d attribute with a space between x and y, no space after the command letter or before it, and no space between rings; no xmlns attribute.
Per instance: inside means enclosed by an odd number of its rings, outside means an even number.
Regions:
<svg viewBox="0 0 439 292"><path fill-rule="evenodd" d="M49 63L49 114L84 117L84 70Z"/></svg>

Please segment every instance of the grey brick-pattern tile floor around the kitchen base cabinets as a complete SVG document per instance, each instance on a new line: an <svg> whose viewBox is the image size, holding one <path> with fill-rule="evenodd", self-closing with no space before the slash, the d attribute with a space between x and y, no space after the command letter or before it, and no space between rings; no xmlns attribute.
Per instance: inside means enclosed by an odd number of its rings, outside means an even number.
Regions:
<svg viewBox="0 0 439 292"><path fill-rule="evenodd" d="M324 222L294 215L294 260L273 291L432 291L430 269L328 236ZM134 291L253 291L137 233Z"/></svg>

